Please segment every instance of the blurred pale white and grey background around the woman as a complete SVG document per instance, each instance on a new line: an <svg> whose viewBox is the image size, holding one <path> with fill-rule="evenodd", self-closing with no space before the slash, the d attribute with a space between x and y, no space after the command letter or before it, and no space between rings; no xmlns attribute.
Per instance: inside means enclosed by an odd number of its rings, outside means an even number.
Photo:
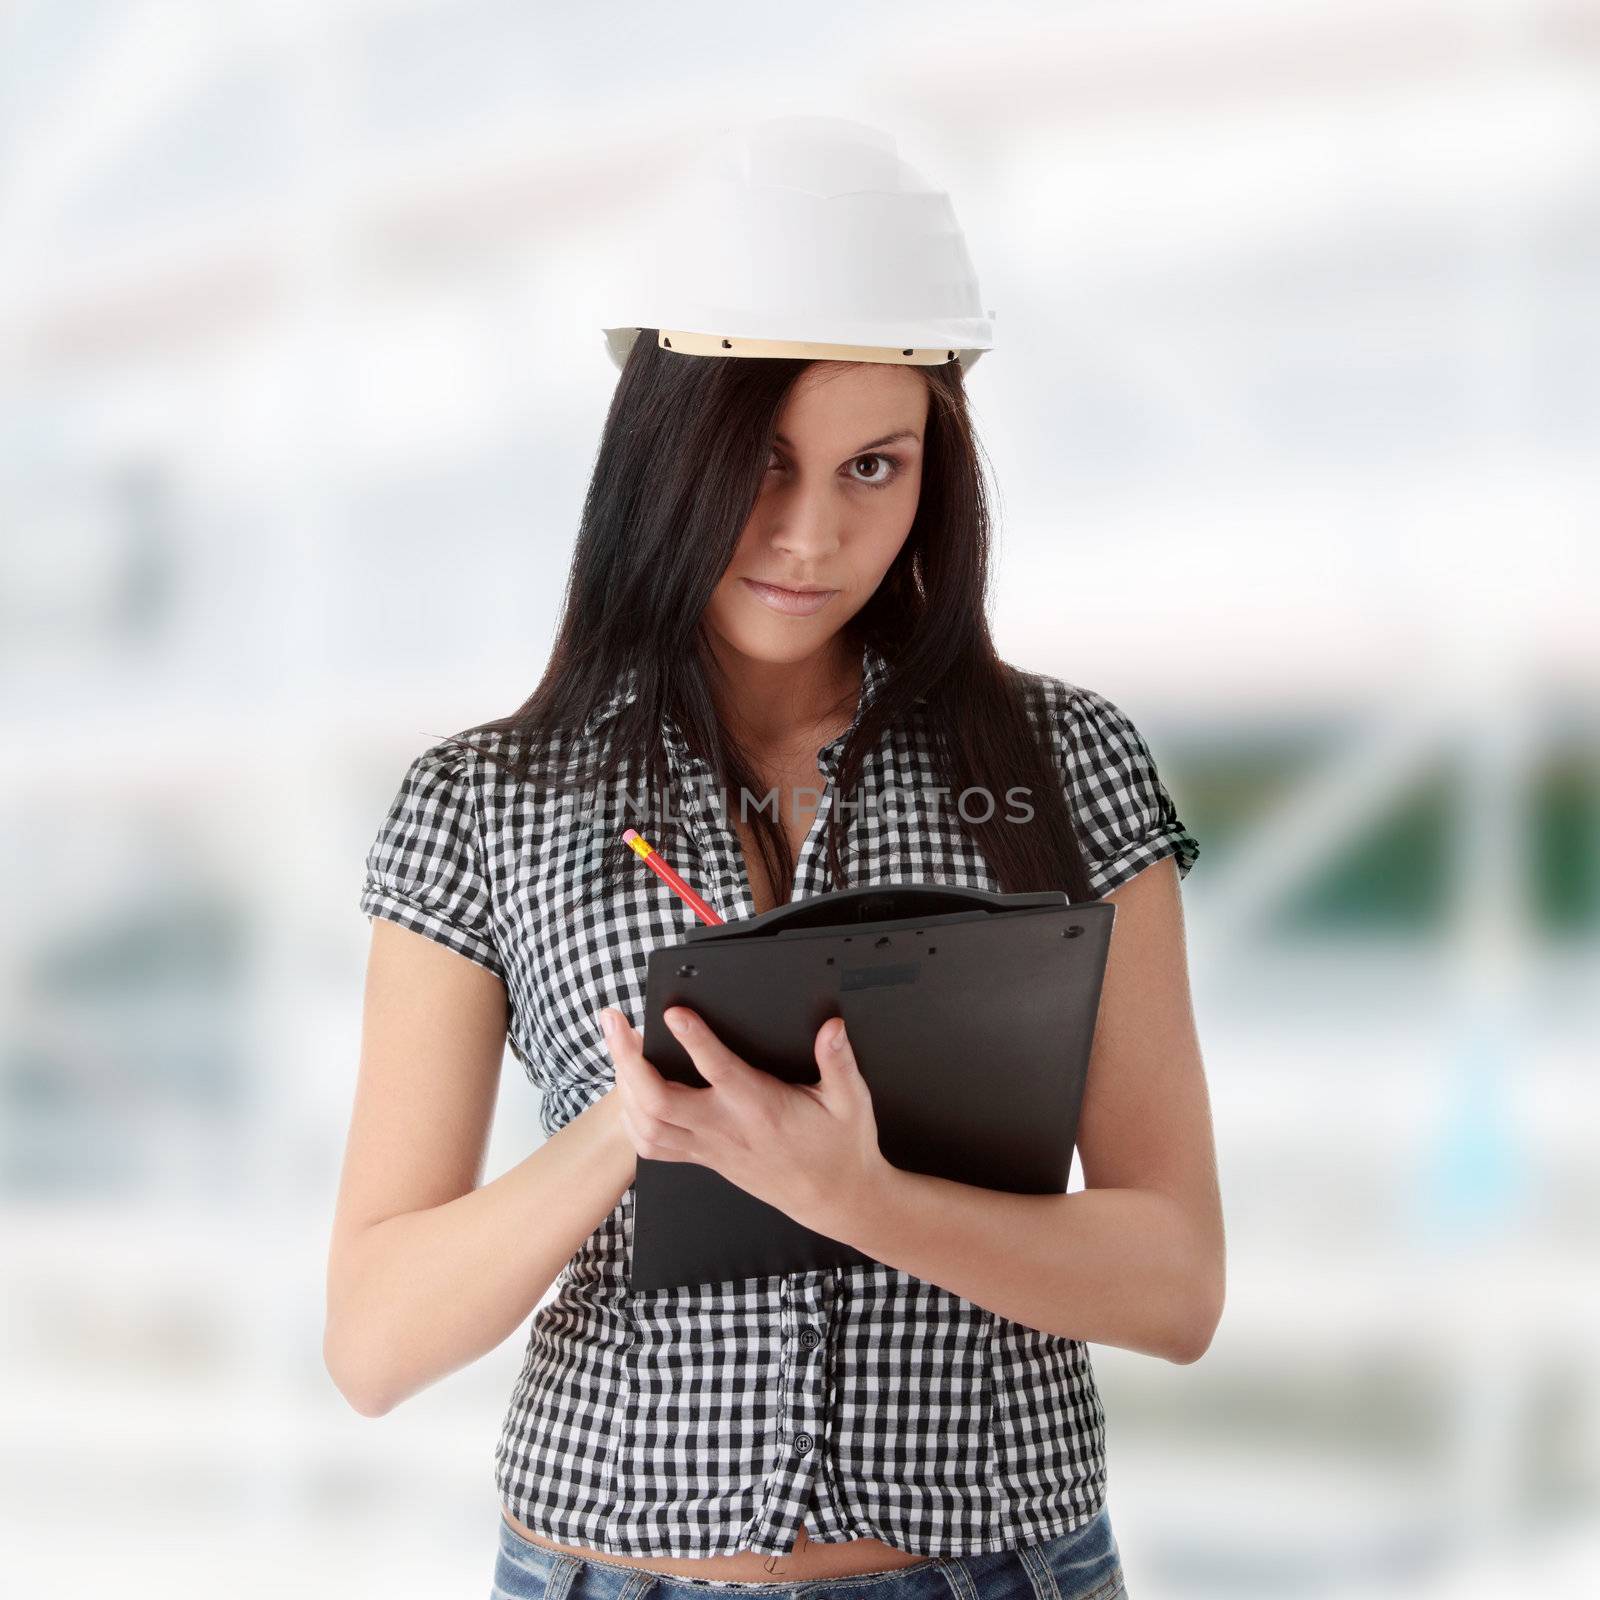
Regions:
<svg viewBox="0 0 1600 1600"><path fill-rule="evenodd" d="M363 854L542 669L629 208L784 110L949 187L1002 654L1202 842L1229 1301L1094 1347L1130 1592L1600 1592L1597 0L0 30L8 1592L488 1592L522 1338L322 1365Z"/></svg>

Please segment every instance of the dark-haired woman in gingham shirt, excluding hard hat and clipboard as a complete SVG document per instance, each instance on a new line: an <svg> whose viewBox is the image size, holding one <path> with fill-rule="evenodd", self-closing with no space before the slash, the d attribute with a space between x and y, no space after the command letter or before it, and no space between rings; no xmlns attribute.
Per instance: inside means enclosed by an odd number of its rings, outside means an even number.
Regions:
<svg viewBox="0 0 1600 1600"><path fill-rule="evenodd" d="M1198 846L1118 707L998 659L987 547L960 362L720 360L640 330L544 678L424 750L379 829L325 1357L376 1416L534 1314L496 1594L1125 1594L1086 1344L1190 1362L1222 1301L1178 893ZM954 802L974 789L997 803ZM1088 1187L890 1168L837 1019L813 1088L693 1013L710 1086L662 1080L645 962L694 917L629 822L725 918L846 882L1115 899ZM485 1184L507 1038L549 1138ZM874 1264L630 1294L640 1155Z"/></svg>

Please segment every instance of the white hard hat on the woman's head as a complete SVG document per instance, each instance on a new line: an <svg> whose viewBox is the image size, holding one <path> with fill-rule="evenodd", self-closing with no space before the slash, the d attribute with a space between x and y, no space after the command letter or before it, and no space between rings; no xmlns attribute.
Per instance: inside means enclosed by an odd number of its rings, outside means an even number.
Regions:
<svg viewBox="0 0 1600 1600"><path fill-rule="evenodd" d="M605 326L618 368L640 328L688 355L965 370L994 347L950 197L859 122L774 117L725 134L645 221L635 282Z"/></svg>

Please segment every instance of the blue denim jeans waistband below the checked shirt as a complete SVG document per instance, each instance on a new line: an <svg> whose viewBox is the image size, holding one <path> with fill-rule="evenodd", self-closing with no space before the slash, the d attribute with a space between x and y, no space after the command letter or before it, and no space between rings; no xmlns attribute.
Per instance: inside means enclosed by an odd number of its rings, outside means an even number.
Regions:
<svg viewBox="0 0 1600 1600"><path fill-rule="evenodd" d="M1128 1600L1122 1552L1102 1506L1070 1533L989 1555L930 1555L886 1573L805 1582L674 1578L643 1566L547 1550L501 1517L491 1600Z"/></svg>

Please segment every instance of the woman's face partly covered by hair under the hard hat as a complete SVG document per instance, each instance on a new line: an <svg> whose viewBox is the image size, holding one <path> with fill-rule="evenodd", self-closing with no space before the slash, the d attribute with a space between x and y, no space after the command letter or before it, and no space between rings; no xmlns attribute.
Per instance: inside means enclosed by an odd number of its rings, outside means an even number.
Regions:
<svg viewBox="0 0 1600 1600"><path fill-rule="evenodd" d="M706 608L723 643L755 661L803 661L867 603L917 515L926 422L928 389L909 368L818 362L800 374Z"/></svg>

